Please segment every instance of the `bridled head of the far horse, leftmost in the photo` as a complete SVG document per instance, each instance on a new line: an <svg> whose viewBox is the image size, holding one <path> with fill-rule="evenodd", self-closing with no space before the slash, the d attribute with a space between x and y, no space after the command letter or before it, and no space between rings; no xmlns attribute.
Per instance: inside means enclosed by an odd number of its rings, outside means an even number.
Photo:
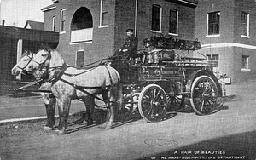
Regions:
<svg viewBox="0 0 256 160"><path fill-rule="evenodd" d="M11 72L12 75L18 76L21 73L26 74L26 66L32 61L33 57L35 56L34 53L30 51L25 51L21 57L21 59L17 62L17 64L12 68Z"/></svg>

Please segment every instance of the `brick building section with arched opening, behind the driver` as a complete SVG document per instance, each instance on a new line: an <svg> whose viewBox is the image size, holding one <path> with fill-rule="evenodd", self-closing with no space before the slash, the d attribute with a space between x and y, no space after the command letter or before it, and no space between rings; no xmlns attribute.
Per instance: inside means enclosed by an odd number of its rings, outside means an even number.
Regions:
<svg viewBox="0 0 256 160"><path fill-rule="evenodd" d="M197 0L53 0L44 30L57 31L57 50L71 66L102 60L125 43L127 28L143 39L154 34L194 40Z"/></svg>

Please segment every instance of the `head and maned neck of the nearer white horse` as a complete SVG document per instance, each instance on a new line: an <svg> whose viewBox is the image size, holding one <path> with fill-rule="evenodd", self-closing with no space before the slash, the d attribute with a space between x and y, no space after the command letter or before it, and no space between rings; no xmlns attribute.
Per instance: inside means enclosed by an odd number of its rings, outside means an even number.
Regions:
<svg viewBox="0 0 256 160"><path fill-rule="evenodd" d="M26 66L26 71L31 72L34 77L42 78L46 72L49 77L55 74L55 68L61 67L65 61L54 49L40 49L33 60Z"/></svg>

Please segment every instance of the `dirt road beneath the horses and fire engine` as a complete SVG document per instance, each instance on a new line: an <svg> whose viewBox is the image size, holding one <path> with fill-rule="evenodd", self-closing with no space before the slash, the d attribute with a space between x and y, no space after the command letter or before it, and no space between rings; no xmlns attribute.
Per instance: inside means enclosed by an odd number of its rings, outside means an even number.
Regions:
<svg viewBox="0 0 256 160"><path fill-rule="evenodd" d="M255 159L255 82L243 83L224 110L197 116L191 110L146 123L138 115L117 118L114 129L70 123L67 134L44 132L44 121L0 126L0 157L5 159ZM168 117L169 116L169 117ZM78 118L70 117L70 122ZM197 158L196 158L197 157Z"/></svg>

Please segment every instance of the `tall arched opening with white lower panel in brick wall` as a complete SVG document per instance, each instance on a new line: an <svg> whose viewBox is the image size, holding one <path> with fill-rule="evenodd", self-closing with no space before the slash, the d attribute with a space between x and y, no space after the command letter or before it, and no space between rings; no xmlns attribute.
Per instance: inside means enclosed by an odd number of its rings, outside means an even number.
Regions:
<svg viewBox="0 0 256 160"><path fill-rule="evenodd" d="M93 20L90 10L81 7L74 14L71 22L71 43L92 41Z"/></svg>

